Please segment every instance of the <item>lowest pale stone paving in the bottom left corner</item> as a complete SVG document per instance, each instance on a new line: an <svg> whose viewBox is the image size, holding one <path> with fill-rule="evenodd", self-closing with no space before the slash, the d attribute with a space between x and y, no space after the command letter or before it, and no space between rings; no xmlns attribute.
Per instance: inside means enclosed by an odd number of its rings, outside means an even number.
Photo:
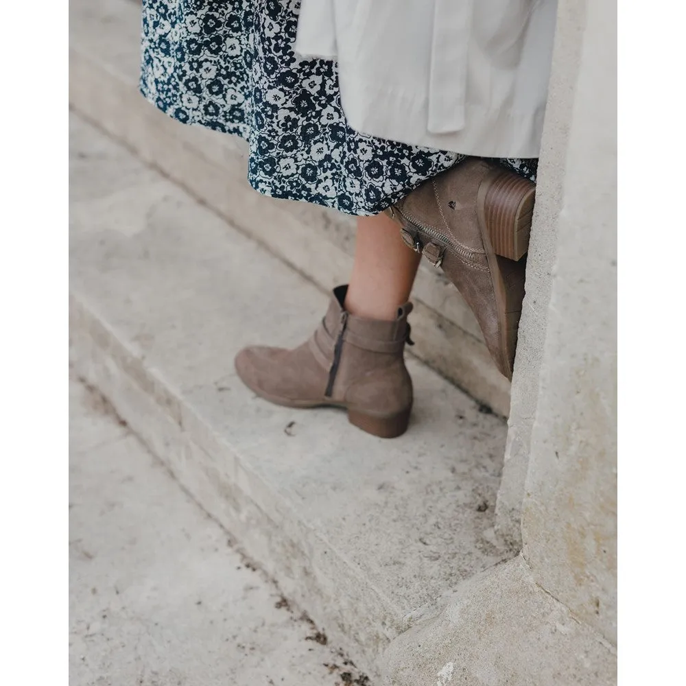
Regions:
<svg viewBox="0 0 686 686"><path fill-rule="evenodd" d="M70 379L69 684L372 686L264 576Z"/></svg>

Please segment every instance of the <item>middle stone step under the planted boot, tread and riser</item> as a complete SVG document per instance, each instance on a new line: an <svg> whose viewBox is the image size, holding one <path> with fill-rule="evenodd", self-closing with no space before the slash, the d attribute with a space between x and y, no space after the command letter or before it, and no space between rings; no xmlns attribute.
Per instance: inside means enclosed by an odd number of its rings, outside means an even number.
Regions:
<svg viewBox="0 0 686 686"><path fill-rule="evenodd" d="M507 557L493 535L504 421L414 358L416 409L395 440L257 399L235 353L298 344L327 296L75 114L70 185L78 373L375 674L390 639Z"/></svg>

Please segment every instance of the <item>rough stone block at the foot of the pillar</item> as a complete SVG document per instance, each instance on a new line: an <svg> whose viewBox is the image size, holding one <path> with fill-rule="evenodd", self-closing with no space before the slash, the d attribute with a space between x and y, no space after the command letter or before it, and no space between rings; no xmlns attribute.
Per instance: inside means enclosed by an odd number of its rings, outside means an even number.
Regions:
<svg viewBox="0 0 686 686"><path fill-rule="evenodd" d="M387 686L614 686L617 655L517 557L395 639L383 674Z"/></svg>

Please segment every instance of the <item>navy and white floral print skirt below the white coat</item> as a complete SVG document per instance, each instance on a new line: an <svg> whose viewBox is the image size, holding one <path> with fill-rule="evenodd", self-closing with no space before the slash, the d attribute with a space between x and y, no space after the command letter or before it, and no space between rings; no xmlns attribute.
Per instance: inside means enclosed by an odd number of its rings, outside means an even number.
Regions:
<svg viewBox="0 0 686 686"><path fill-rule="evenodd" d="M294 54L299 0L143 0L141 93L171 117L248 141L274 198L373 215L466 157L360 134L334 62ZM536 160L501 160L536 178Z"/></svg>

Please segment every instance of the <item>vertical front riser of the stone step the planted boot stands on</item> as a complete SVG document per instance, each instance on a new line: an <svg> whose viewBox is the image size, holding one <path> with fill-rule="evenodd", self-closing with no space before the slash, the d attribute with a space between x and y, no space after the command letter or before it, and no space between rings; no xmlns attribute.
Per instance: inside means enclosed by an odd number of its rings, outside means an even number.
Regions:
<svg viewBox="0 0 686 686"><path fill-rule="evenodd" d="M145 361L95 314L86 298L70 292L69 309L71 364L79 377L108 399L121 420L200 507L276 579L283 593L304 608L358 667L372 677L378 676L377 660L390 641L410 628L417 617L424 617L425 609L403 613L363 578L359 568L301 521L287 501L252 472L235 447L216 434L209 435L211 429L183 407L182 397L161 372L147 368ZM216 466L232 463L233 481ZM265 495L256 498L260 490ZM272 512L266 511L265 503ZM308 545L308 538L313 536L319 545ZM306 551L317 549L328 554L310 559ZM346 606L355 608L357 622L360 615L368 616L364 635L346 622L342 607L327 602L327 587L331 588L334 579L338 596L346 599ZM431 611L436 611L433 604Z"/></svg>

